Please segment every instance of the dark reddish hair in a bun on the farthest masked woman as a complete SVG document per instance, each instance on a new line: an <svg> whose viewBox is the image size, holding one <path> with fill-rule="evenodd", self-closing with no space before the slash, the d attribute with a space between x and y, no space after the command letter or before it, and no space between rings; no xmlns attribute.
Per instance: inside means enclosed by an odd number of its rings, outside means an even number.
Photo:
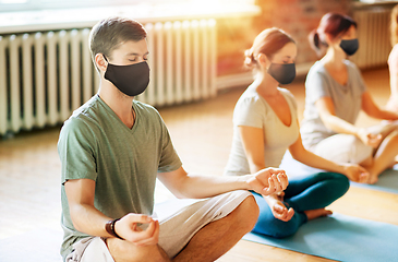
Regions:
<svg viewBox="0 0 398 262"><path fill-rule="evenodd" d="M316 53L321 56L324 49L327 47L327 44L324 40L325 34L336 38L339 35L345 34L352 25L357 28L357 22L348 15L339 13L325 14L321 19L318 27L313 29L309 35L312 49L314 49Z"/></svg>

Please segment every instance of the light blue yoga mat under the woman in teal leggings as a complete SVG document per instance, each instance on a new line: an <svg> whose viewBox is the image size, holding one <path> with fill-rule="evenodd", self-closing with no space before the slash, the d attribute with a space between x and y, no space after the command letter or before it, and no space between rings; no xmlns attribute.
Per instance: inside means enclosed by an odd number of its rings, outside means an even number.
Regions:
<svg viewBox="0 0 398 262"><path fill-rule="evenodd" d="M398 226L338 213L310 221L288 238L250 233L243 239L338 261L398 261Z"/></svg>

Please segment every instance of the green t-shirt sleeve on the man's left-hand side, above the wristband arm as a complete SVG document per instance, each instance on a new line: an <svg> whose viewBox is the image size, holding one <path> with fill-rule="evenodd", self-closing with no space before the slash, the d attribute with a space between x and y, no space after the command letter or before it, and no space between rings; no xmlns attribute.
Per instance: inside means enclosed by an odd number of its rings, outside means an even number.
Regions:
<svg viewBox="0 0 398 262"><path fill-rule="evenodd" d="M95 136L80 119L69 119L58 141L62 184L70 179L96 180Z"/></svg>

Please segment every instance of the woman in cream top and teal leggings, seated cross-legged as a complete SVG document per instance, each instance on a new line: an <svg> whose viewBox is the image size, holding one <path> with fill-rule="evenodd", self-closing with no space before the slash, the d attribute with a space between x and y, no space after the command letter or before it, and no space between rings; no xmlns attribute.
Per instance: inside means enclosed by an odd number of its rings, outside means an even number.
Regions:
<svg viewBox="0 0 398 262"><path fill-rule="evenodd" d="M278 167L287 150L297 160L330 171L289 177L282 193L267 196L253 192L260 217L252 231L282 238L310 219L331 214L325 206L347 192L349 179L364 181L369 174L358 165L336 164L303 147L294 97L279 87L296 76L297 46L289 35L279 28L265 29L245 55L245 64L256 75L234 108L232 148L225 175L243 176Z"/></svg>

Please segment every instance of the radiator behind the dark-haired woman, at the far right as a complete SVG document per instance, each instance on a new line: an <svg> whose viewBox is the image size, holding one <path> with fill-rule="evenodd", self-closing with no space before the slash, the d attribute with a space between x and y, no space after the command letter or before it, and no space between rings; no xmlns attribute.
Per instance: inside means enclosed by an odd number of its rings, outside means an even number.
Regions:
<svg viewBox="0 0 398 262"><path fill-rule="evenodd" d="M361 69L387 64L389 51L390 9L357 10L353 19L358 23L360 48L352 61Z"/></svg>

